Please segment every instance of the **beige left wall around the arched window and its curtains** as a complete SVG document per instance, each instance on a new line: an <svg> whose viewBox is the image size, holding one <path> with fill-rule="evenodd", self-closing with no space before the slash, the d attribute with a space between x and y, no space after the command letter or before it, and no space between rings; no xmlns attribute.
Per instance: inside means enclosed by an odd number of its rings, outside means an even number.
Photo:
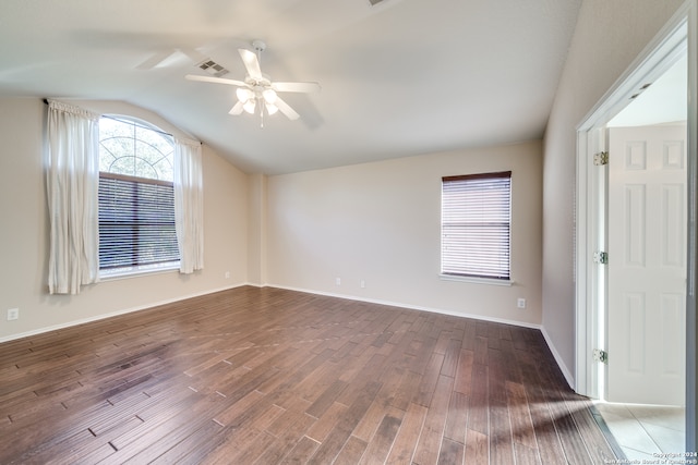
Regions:
<svg viewBox="0 0 698 465"><path fill-rule="evenodd" d="M176 131L143 109L125 103L107 107L100 107L101 111L131 114ZM46 106L34 98L0 99L0 341L246 282L246 175L204 146L203 271L104 281L84 287L79 295L49 295L43 167ZM8 308L20 308L20 319L7 321Z"/></svg>

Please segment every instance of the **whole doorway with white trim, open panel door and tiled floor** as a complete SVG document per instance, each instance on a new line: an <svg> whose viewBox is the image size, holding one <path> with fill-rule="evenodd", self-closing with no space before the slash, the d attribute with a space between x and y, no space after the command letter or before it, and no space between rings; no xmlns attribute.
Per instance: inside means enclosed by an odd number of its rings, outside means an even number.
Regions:
<svg viewBox="0 0 698 465"><path fill-rule="evenodd" d="M686 2L578 127L576 390L610 402L628 458L696 448L695 16Z"/></svg>

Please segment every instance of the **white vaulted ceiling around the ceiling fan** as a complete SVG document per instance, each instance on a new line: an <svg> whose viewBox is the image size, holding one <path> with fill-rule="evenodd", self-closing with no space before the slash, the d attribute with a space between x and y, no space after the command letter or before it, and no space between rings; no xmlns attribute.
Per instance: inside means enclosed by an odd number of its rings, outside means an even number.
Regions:
<svg viewBox="0 0 698 465"><path fill-rule="evenodd" d="M128 101L267 174L529 140L580 2L2 0L0 96ZM228 114L233 87L184 79L203 74L196 57L243 79L237 49L253 39L273 79L322 85L284 94L300 120L260 129Z"/></svg>

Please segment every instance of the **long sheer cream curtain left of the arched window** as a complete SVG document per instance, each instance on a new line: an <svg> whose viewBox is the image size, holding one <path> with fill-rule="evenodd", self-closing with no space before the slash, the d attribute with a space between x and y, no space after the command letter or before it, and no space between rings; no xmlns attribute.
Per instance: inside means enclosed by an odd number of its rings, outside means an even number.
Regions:
<svg viewBox="0 0 698 465"><path fill-rule="evenodd" d="M47 136L48 289L79 294L99 279L99 115L51 100Z"/></svg>

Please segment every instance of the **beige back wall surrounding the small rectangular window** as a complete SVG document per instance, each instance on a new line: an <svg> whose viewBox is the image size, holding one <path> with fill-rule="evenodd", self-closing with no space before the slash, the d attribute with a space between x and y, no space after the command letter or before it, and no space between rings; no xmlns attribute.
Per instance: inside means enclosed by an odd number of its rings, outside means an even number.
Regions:
<svg viewBox="0 0 698 465"><path fill-rule="evenodd" d="M267 281L539 325L541 163L541 143L531 142L270 176ZM442 176L506 170L513 171L516 283L506 287L440 279ZM527 298L527 309L517 308L517 297Z"/></svg>

